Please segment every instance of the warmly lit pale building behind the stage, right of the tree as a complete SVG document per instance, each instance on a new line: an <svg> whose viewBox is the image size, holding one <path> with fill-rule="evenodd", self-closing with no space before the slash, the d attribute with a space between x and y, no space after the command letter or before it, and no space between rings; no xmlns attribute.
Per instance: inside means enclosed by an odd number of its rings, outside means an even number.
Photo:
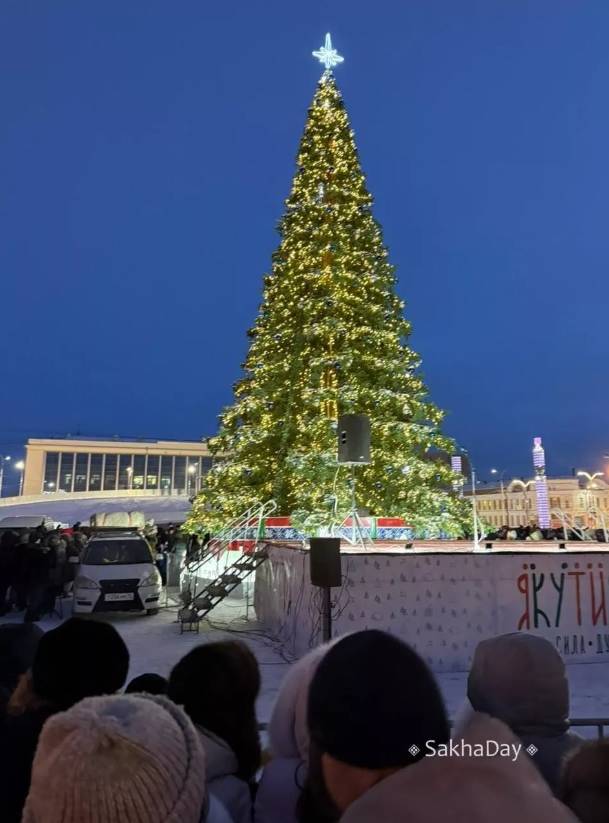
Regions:
<svg viewBox="0 0 609 823"><path fill-rule="evenodd" d="M568 526L609 530L609 485L601 478L547 479L552 528ZM471 492L468 496L471 496ZM500 486L476 489L480 518L493 528L537 523L535 480L512 480Z"/></svg>

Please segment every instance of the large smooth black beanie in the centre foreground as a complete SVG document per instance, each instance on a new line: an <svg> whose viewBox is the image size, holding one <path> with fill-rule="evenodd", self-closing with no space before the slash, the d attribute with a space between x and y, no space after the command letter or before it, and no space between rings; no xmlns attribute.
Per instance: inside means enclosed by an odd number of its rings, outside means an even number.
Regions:
<svg viewBox="0 0 609 823"><path fill-rule="evenodd" d="M442 696L419 655L378 630L347 635L321 660L308 724L319 751L351 766L407 766L450 730ZM416 747L416 748L415 748Z"/></svg>

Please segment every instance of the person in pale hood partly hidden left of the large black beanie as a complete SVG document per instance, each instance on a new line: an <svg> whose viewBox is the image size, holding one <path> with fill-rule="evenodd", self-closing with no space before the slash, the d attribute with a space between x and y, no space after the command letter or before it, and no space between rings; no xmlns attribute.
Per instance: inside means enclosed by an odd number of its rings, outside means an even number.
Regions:
<svg viewBox="0 0 609 823"><path fill-rule="evenodd" d="M296 823L296 807L308 772L309 686L328 648L313 649L293 663L283 679L268 727L271 760L256 792L256 823Z"/></svg>

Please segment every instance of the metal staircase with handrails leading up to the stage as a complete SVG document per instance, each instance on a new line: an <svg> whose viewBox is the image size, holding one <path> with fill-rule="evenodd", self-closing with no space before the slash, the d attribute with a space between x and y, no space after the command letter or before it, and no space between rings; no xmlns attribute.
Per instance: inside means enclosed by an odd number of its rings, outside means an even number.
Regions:
<svg viewBox="0 0 609 823"><path fill-rule="evenodd" d="M189 580L181 594L184 606L178 614L180 633L186 627L194 627L198 631L199 622L264 563L268 557L266 543L262 541L264 521L276 508L274 500L250 506L246 512L212 537L198 558L185 565ZM229 564L231 544L243 540L252 542L251 551ZM205 566L211 565L212 561L219 565L222 558L225 561L224 569L219 571L216 567L213 578L197 591L197 575L204 572Z"/></svg>

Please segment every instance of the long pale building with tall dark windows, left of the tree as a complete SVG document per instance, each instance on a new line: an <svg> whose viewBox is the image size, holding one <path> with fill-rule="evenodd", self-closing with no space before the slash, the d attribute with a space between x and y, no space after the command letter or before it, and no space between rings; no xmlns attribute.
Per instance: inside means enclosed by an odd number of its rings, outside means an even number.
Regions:
<svg viewBox="0 0 609 823"><path fill-rule="evenodd" d="M191 495L211 465L203 442L30 439L23 494L146 490Z"/></svg>

